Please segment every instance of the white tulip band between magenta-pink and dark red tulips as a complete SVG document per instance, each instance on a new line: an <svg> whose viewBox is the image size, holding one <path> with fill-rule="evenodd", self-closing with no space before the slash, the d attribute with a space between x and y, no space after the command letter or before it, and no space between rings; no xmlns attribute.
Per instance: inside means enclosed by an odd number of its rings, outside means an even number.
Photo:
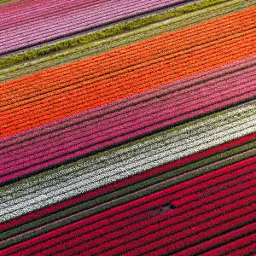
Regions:
<svg viewBox="0 0 256 256"><path fill-rule="evenodd" d="M0 189L0 222L255 132L254 104L212 114L6 186Z"/></svg>

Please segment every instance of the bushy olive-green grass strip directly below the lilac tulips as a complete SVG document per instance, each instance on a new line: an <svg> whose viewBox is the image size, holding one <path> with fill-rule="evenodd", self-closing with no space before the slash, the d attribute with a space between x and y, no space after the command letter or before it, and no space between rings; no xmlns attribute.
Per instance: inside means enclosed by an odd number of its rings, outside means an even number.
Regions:
<svg viewBox="0 0 256 256"><path fill-rule="evenodd" d="M247 6L249 6L250 2L252 1L240 0L239 3L247 3ZM119 25L111 26L96 32L91 32L84 36L80 36L78 38L67 39L65 41L61 41L56 44L50 44L38 49L27 50L26 52L23 52L17 55L11 55L11 56L5 57L0 60L0 68L10 67L12 65L18 64L23 61L35 60L38 57L49 55L51 53L55 53L63 49L69 49L69 48L77 47L79 45L88 44L90 42L93 42L102 38L108 38L110 36L117 35L123 32L129 32L136 28L147 26L155 22L159 22L162 20L170 19L170 18L175 18L177 16L185 15L190 12L195 12L200 9L205 9L207 7L217 5L219 3L227 3L227 2L230 2L230 1L204 0L200 3L191 3L178 9L169 10L165 13L161 13L157 15L149 15L143 18L139 18L137 20L125 21L124 23L121 23Z"/></svg>

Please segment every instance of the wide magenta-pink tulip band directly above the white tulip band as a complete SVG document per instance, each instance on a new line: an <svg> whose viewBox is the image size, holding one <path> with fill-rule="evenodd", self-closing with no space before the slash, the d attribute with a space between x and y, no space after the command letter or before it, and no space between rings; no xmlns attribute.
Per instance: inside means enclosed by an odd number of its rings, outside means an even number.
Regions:
<svg viewBox="0 0 256 256"><path fill-rule="evenodd" d="M124 108L118 113L89 119L80 125L38 137L32 143L26 142L23 147L19 144L19 148L15 148L12 153L9 148L5 148L2 150L6 157L0 165L0 180L17 177L24 172L36 172L42 165L46 167L72 156L89 154L113 143L141 136L166 125L175 125L185 119L255 96L255 68L249 67L235 75L228 74L166 96L158 96L148 102Z"/></svg>

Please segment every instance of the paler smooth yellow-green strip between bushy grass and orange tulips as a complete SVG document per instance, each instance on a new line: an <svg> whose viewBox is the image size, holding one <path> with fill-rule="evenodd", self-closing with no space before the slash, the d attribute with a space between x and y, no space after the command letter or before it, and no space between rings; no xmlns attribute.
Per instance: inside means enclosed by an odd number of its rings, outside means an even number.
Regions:
<svg viewBox="0 0 256 256"><path fill-rule="evenodd" d="M244 2L244 3L241 3ZM230 15L242 9L247 9L248 3L241 0L232 0L228 3L221 3L201 9L193 13L182 15L171 19L169 22L160 21L132 30L131 32L121 33L113 37L104 38L88 44L83 44L75 48L61 50L59 52L45 55L32 61L21 62L18 66L9 67L0 71L0 83L11 79L19 78L28 73L38 72L47 67L57 67L72 61L79 61L92 55L98 55L111 49L137 43L139 41L153 38L164 32L176 31L188 26L193 26L202 21L216 19L224 15Z"/></svg>

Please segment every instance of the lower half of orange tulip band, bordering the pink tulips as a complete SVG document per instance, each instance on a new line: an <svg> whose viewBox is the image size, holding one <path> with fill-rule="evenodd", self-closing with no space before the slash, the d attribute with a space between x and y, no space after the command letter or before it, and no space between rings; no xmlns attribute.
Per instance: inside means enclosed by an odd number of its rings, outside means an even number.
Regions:
<svg viewBox="0 0 256 256"><path fill-rule="evenodd" d="M88 83L83 82L79 90L67 90L61 95L6 110L0 119L1 137L247 58L255 54L255 34L255 30L241 33L230 37L229 41L160 58L150 66L142 65L129 73L93 84L90 81L90 90L86 88Z"/></svg>

